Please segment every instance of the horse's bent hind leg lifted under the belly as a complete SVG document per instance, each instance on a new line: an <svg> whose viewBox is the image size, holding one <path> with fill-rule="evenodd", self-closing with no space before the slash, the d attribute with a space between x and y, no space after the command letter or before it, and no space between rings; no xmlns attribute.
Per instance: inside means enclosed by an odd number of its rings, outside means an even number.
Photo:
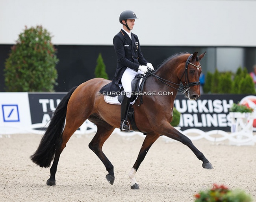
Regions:
<svg viewBox="0 0 256 202"><path fill-rule="evenodd" d="M95 154L98 156L98 158L102 161L102 163L105 165L106 170L108 171L108 174L106 175L106 178L109 182L109 184L114 184L115 181L115 175L114 175L114 166L112 163L108 160L106 155L102 151L102 146L104 142L109 138L113 130L115 129L111 125L108 125L106 122L104 124L96 124L98 127L98 130L93 137L93 140L89 143L89 148L95 152Z"/></svg>

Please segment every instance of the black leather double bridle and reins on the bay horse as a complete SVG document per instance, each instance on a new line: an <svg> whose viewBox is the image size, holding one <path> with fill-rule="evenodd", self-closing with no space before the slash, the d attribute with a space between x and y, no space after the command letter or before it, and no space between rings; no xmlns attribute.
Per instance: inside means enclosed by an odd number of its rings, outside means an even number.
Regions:
<svg viewBox="0 0 256 202"><path fill-rule="evenodd" d="M200 85L200 81L197 81L197 82L190 82L189 83L189 80L188 80L188 75L187 75L187 70L188 70L188 65L191 64L197 68L201 68L201 64L199 66L195 65L195 64L192 64L190 61L191 57L192 57L193 54L189 55L189 57L187 58L187 61L186 61L186 65L185 65L185 71L184 73L182 74L182 77L185 75L185 82L182 87L180 86L180 84L177 84L177 83L173 83L171 81L168 81L168 80L165 80L161 77L159 77L158 75L155 75L154 73L148 71L148 73L154 77L156 77L159 81L161 81L162 83L166 84L167 86L170 86L178 91L180 91L182 94L184 94L185 92L187 92L187 90L189 90L190 86L196 86L196 85ZM180 79L182 79L182 77ZM170 84L168 83L171 83L171 84L174 84L174 85L177 85L179 86L179 88L175 88L173 86L171 86Z"/></svg>

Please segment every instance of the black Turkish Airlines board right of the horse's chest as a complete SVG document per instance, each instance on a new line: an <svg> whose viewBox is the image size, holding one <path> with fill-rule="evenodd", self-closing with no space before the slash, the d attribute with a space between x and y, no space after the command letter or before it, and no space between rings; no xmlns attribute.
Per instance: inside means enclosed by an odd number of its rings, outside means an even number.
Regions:
<svg viewBox="0 0 256 202"><path fill-rule="evenodd" d="M230 131L229 108L247 95L203 94L200 99L188 100L184 95L177 95L174 107L181 113L181 130L200 129Z"/></svg>

